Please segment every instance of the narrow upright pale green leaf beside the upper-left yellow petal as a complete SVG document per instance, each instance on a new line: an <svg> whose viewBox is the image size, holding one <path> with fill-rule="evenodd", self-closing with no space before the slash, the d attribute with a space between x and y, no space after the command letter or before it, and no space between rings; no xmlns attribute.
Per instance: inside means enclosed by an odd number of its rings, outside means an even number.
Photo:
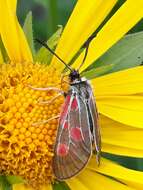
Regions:
<svg viewBox="0 0 143 190"><path fill-rule="evenodd" d="M35 54L35 49L34 49L34 42L33 42L33 29L32 29L32 12L29 11L29 13L26 16L24 25L23 25L23 30L26 35L28 44L31 48L32 54Z"/></svg>

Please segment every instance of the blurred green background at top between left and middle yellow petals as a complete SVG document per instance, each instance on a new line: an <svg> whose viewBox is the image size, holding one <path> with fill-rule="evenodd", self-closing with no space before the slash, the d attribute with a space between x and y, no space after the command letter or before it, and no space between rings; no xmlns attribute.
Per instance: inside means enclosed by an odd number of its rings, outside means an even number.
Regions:
<svg viewBox="0 0 143 190"><path fill-rule="evenodd" d="M65 25L76 0L19 0L18 18L23 25L26 15L32 11L34 36L47 39L57 25Z"/></svg>

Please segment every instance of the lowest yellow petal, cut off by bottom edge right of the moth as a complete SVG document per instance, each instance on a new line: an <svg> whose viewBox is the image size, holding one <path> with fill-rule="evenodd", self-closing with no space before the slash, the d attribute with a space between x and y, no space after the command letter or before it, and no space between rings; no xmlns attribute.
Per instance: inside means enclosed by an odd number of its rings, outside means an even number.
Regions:
<svg viewBox="0 0 143 190"><path fill-rule="evenodd" d="M94 171L90 171L88 169L81 172L78 178L83 184L85 183L88 189L98 189L98 190L105 190L105 189L133 190L134 189L131 187L127 187L126 185L121 184L120 182L117 182L113 179L109 179L108 177L102 176Z"/></svg>

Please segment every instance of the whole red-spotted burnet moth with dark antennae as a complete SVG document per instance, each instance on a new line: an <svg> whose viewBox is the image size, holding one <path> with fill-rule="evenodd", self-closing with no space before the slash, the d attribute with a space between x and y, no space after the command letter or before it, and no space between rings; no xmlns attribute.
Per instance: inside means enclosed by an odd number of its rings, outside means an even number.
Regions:
<svg viewBox="0 0 143 190"><path fill-rule="evenodd" d="M84 44L86 51L82 64L94 37L95 35L90 36ZM62 181L77 175L87 165L93 151L96 152L99 165L101 137L98 113L90 82L80 76L79 69L72 69L47 44L38 39L37 41L70 70L70 89L65 95L60 114L53 157L54 175L57 180Z"/></svg>

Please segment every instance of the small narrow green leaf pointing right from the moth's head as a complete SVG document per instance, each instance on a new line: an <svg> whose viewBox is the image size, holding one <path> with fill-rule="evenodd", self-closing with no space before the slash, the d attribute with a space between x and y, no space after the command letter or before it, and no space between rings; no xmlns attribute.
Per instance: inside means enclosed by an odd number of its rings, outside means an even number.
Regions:
<svg viewBox="0 0 143 190"><path fill-rule="evenodd" d="M114 64L101 66L98 68L90 69L89 71L83 72L81 75L85 76L87 79L92 79L107 74L114 68Z"/></svg>

